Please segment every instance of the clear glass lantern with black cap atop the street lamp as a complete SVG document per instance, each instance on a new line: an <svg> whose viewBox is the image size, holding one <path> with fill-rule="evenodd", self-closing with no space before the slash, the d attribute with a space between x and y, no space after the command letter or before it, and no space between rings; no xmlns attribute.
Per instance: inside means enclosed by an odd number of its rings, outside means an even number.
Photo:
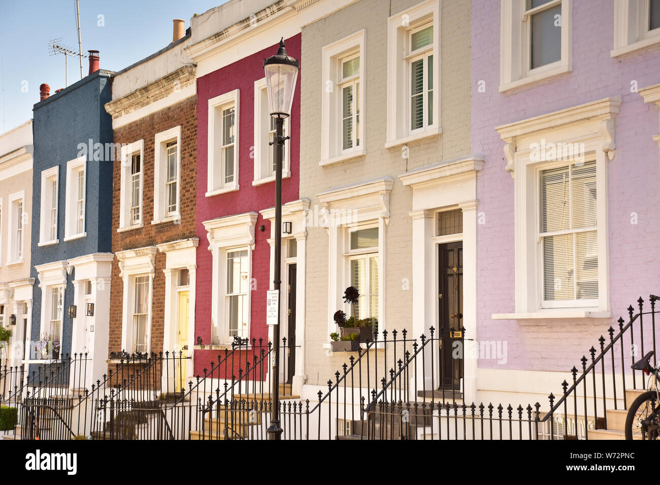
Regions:
<svg viewBox="0 0 660 485"><path fill-rule="evenodd" d="M284 38L280 40L277 54L263 61L263 69L266 73L266 90L271 116L286 118L291 114L300 63L286 55Z"/></svg>

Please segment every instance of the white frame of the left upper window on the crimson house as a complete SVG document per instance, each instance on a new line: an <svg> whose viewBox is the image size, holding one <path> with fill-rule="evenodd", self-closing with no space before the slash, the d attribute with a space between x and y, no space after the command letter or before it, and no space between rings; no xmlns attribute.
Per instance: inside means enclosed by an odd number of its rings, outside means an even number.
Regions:
<svg viewBox="0 0 660 485"><path fill-rule="evenodd" d="M224 176L221 178L223 181L218 183L216 186L214 183L215 175L218 170L220 174L224 169L224 162L220 160L220 135L222 133L222 108L228 105L234 105L234 181L225 183ZM225 94L220 94L215 98L209 100L209 133L208 133L208 170L207 170L207 193L206 197L213 197L213 195L218 195L221 193L232 192L238 190L238 152L240 149L239 145L239 133L240 133L240 110L239 110L239 92L238 89L235 89ZM217 136L216 136L217 131ZM218 140L216 140L216 138ZM216 149L218 153L216 154Z"/></svg>

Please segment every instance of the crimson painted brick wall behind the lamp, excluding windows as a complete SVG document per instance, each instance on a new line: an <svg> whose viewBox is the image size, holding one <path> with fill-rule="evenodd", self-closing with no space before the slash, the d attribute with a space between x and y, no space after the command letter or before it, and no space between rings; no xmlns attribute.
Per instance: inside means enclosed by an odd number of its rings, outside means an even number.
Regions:
<svg viewBox="0 0 660 485"><path fill-rule="evenodd" d="M284 39L288 55L300 58L300 34ZM207 230L202 222L213 218L242 214L244 212L259 212L275 205L275 182L253 186L254 160L251 156L254 146L254 82L263 79L263 59L277 52L277 46L269 46L253 55L240 59L235 63L218 69L197 79L197 300L195 305L195 339L199 336L204 344L211 342L211 305L214 299L220 298L213 294L212 255L208 250ZM298 154L300 151L300 79L296 86L294 104L290 117L292 139L290 143L290 178L282 181L282 203L298 199ZM207 151L209 132L209 99L226 92L238 89L239 125L238 125L238 191L206 197L207 192ZM258 230L259 226L265 230ZM255 247L252 252L251 291L251 329L250 338L268 339L268 329L265 324L266 290L270 287L270 245L267 238L270 234L270 223L261 214L256 222ZM203 368L215 360L217 350L197 350L195 352L195 373L202 373Z"/></svg>

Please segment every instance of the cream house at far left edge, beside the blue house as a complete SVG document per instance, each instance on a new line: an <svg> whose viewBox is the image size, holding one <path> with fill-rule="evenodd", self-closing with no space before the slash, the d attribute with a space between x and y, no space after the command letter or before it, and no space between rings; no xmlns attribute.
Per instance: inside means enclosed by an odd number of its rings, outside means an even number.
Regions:
<svg viewBox="0 0 660 485"><path fill-rule="evenodd" d="M32 119L0 135L0 325L11 329L3 365L26 357L32 313Z"/></svg>

